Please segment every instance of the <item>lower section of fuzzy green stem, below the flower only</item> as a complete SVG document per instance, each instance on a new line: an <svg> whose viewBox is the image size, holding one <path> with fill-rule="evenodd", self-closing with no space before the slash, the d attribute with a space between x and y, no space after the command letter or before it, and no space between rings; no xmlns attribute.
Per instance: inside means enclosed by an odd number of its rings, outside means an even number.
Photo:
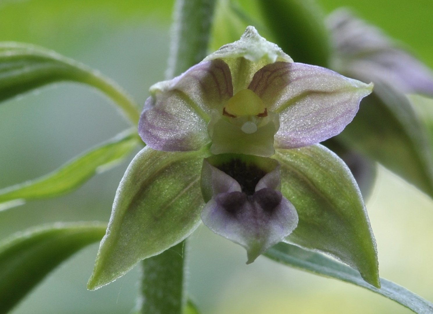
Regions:
<svg viewBox="0 0 433 314"><path fill-rule="evenodd" d="M142 261L142 314L182 314L185 307L185 241Z"/></svg>

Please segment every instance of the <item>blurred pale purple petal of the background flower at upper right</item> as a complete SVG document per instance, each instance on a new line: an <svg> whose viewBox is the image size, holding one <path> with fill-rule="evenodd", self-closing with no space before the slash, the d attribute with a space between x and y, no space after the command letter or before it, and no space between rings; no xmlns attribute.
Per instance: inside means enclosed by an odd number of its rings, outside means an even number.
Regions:
<svg viewBox="0 0 433 314"><path fill-rule="evenodd" d="M328 18L337 70L358 79L384 82L405 93L433 95L433 72L381 29L336 10Z"/></svg>

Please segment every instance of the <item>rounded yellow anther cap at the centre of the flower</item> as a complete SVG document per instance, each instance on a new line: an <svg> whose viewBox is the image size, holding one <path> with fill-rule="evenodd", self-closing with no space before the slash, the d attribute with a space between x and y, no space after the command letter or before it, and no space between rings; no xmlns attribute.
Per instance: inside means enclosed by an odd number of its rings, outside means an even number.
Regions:
<svg viewBox="0 0 433 314"><path fill-rule="evenodd" d="M226 102L224 114L230 117L257 116L265 113L266 107L257 94L242 89Z"/></svg>

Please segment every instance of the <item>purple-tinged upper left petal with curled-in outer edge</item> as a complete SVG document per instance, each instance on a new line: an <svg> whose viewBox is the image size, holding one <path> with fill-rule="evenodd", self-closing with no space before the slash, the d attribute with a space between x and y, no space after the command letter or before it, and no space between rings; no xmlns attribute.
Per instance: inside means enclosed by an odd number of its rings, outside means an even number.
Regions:
<svg viewBox="0 0 433 314"><path fill-rule="evenodd" d="M191 151L210 142L210 110L233 96L228 65L200 62L180 76L153 85L139 121L139 135L152 149Z"/></svg>

